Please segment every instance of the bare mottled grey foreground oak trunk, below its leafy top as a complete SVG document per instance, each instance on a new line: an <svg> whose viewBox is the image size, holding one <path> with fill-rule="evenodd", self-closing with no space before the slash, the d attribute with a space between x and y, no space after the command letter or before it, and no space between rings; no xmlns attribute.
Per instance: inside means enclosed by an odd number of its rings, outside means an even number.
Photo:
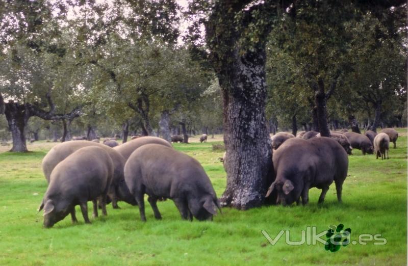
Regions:
<svg viewBox="0 0 408 266"><path fill-rule="evenodd" d="M271 143L265 118L265 50L235 53L230 71L218 73L223 93L224 143L228 156L224 206L248 209L264 203Z"/></svg>

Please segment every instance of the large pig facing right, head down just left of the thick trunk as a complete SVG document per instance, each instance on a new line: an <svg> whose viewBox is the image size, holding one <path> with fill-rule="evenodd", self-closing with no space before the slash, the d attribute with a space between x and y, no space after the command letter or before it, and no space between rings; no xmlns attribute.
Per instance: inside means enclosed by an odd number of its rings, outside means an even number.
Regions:
<svg viewBox="0 0 408 266"><path fill-rule="evenodd" d="M184 220L212 219L220 208L210 178L197 160L163 145L146 144L135 150L124 167L124 178L142 221L146 221L144 194L156 219L161 219L159 198L172 199Z"/></svg>

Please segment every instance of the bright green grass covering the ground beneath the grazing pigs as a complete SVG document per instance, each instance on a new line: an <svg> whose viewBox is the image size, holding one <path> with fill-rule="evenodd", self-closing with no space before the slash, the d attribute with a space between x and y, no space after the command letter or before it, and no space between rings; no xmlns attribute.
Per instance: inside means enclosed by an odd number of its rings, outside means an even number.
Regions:
<svg viewBox="0 0 408 266"><path fill-rule="evenodd" d="M77 207L79 224L67 217L51 229L42 227L36 211L47 187L40 164L50 144L33 144L34 152L25 154L0 153L0 265L406 265L406 142L400 137L386 161L354 151L343 204L337 203L333 184L322 206L320 191L312 189L304 207L224 208L213 222L188 222L171 200L158 203L163 220L156 221L146 201L142 223L137 207L119 202L122 209L109 205L108 217L91 219L91 225L83 223ZM223 152L212 150L217 143L174 146L198 159L221 196L226 180L218 159ZM284 237L272 246L261 234L266 230L274 237L290 229L291 240L299 240L307 226L321 232L339 223L352 229L351 240L380 233L387 244L349 245L330 253L322 244L289 246Z"/></svg>

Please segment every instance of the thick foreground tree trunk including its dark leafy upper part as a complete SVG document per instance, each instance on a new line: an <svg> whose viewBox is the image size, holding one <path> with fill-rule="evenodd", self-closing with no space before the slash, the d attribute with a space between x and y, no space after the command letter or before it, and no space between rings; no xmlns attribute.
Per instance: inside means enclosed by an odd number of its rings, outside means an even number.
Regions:
<svg viewBox="0 0 408 266"><path fill-rule="evenodd" d="M215 3L206 32L210 61L222 89L228 156L226 189L220 202L248 209L265 202L271 183L272 153L265 117L265 40L272 29L276 6L272 1L247 9L250 1ZM249 25L254 28L249 30ZM246 45L250 38L246 34L254 29L258 41Z"/></svg>

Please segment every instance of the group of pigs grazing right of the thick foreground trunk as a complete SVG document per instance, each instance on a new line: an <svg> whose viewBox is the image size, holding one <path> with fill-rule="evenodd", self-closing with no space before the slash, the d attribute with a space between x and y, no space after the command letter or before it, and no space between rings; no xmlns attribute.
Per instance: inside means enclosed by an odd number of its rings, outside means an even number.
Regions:
<svg viewBox="0 0 408 266"><path fill-rule="evenodd" d="M354 148L360 149L363 155L375 153L377 159L379 156L389 158L390 141L396 148L397 138L398 132L392 128L382 129L378 135L371 130L362 135L342 129L330 131L330 138L321 137L316 131L302 131L296 137L279 132L272 137L275 180L266 197L273 197L272 202L284 205L295 201L299 204L300 199L302 204L307 204L309 189L318 188L322 190L318 202L322 203L334 181L337 199L341 202L348 171L347 154L352 154Z"/></svg>

